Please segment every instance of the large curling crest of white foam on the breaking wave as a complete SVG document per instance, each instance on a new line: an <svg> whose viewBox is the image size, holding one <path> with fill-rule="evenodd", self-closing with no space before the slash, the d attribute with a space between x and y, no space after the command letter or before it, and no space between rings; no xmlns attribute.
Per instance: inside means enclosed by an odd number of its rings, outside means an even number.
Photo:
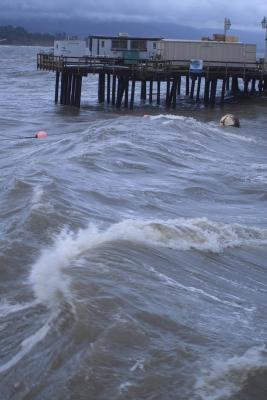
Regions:
<svg viewBox="0 0 267 400"><path fill-rule="evenodd" d="M76 234L63 232L51 248L43 250L32 266L29 280L37 300L51 308L62 296L71 302L65 269L83 253L104 243L121 240L143 246L216 253L236 246L266 245L267 230L227 225L207 218L179 218L167 221L124 220L102 232L94 225Z"/></svg>

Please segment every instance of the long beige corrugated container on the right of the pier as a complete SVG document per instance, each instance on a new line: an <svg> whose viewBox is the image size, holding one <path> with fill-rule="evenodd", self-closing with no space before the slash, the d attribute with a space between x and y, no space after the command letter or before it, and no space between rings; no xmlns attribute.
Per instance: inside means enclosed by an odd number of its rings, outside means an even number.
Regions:
<svg viewBox="0 0 267 400"><path fill-rule="evenodd" d="M206 65L256 63L256 45L245 43L163 39L157 43L157 54L162 60L179 60L177 64L191 59Z"/></svg>

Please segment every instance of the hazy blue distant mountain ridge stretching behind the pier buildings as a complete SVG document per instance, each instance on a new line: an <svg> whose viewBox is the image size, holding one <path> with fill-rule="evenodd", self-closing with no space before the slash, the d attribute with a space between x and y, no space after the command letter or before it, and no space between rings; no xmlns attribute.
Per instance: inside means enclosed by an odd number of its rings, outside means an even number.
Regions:
<svg viewBox="0 0 267 400"><path fill-rule="evenodd" d="M31 19L25 18L23 20L5 20L1 18L0 15L0 25L8 25L2 27L2 29L9 28L10 30L10 36L8 36L10 44L43 44L51 46L55 38L64 37L64 34L57 34L56 32L66 32L66 35L77 35L80 38L85 38L90 34L117 35L119 32L128 32L132 36L153 36L192 40L200 39L202 36L211 37L213 33L223 33L223 26L221 27L221 30L213 27L204 29L178 25L178 23L136 23L120 21L93 21L81 18L45 19L39 17ZM14 26L17 25L23 25L24 28L15 28ZM229 35L238 36L239 40L244 43L256 43L258 53L264 52L264 32L262 30L252 32L236 30L233 28L230 29ZM7 37L7 34L1 32L0 30L0 38L1 37Z"/></svg>

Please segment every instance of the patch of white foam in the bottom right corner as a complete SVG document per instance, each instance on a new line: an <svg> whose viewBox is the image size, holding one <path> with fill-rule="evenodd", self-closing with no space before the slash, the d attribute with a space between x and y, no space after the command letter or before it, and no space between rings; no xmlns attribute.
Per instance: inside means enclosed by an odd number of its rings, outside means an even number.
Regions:
<svg viewBox="0 0 267 400"><path fill-rule="evenodd" d="M205 370L201 369L196 392L203 400L228 399L243 387L251 372L262 367L267 367L264 345L252 347L241 356L217 359Z"/></svg>

